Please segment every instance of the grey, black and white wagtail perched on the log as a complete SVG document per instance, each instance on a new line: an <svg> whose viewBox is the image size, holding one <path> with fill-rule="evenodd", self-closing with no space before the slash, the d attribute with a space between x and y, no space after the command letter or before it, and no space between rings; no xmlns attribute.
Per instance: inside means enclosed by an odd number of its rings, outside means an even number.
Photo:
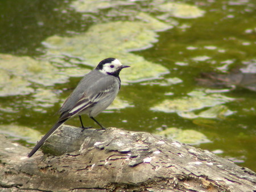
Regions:
<svg viewBox="0 0 256 192"><path fill-rule="evenodd" d="M28 157L34 155L48 137L73 116L79 116L82 128L84 128L84 125L82 124L81 115L86 114L102 129L105 129L94 117L114 101L121 86L119 73L123 68L128 67L127 65L122 65L117 59L108 58L102 60L94 70L85 74L75 90L60 107L60 118L51 130L36 144L34 149L28 154Z"/></svg>

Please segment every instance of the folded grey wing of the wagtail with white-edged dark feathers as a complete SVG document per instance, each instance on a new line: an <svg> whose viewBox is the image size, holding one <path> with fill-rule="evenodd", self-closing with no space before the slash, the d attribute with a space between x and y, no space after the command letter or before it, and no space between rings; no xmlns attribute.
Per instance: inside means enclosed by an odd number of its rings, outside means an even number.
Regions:
<svg viewBox="0 0 256 192"><path fill-rule="evenodd" d="M75 105L60 115L59 121L75 116L80 111L93 106L97 102L102 101L107 97L111 97L110 95L112 95L115 90L118 90L118 87L118 81L112 76L106 76L105 78L100 78L97 81L92 82Z"/></svg>

